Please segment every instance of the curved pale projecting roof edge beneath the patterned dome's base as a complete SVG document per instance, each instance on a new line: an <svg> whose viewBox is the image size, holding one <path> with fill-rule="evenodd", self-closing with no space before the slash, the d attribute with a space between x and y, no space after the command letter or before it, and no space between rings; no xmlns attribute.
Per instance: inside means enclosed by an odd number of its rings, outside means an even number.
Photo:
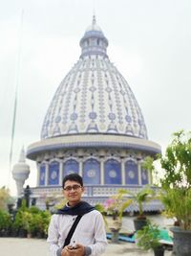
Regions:
<svg viewBox="0 0 191 256"><path fill-rule="evenodd" d="M147 151L151 155L161 152L159 144L145 139L118 134L76 134L49 138L32 143L28 147L27 157L35 160L40 152L97 147Z"/></svg>

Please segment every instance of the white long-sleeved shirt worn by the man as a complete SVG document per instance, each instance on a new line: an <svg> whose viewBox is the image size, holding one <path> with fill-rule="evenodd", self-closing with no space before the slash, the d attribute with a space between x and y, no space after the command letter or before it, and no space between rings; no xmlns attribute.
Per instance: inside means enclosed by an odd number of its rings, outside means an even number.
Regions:
<svg viewBox="0 0 191 256"><path fill-rule="evenodd" d="M72 215L52 216L47 239L52 256L56 256L56 251L63 246L75 218L76 216ZM72 244L73 242L91 247L91 256L98 256L105 251L107 245L105 225L98 211L93 210L82 216L74 230L71 239Z"/></svg>

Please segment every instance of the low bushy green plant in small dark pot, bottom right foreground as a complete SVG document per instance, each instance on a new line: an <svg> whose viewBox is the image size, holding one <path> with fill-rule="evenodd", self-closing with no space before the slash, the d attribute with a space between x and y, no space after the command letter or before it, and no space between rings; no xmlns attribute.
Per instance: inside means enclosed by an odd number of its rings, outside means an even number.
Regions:
<svg viewBox="0 0 191 256"><path fill-rule="evenodd" d="M138 230L136 238L138 240L138 247L146 251L153 249L155 256L164 255L164 246L159 243L160 232L158 225L152 224L150 221L148 221L147 224L142 227L142 229Z"/></svg>

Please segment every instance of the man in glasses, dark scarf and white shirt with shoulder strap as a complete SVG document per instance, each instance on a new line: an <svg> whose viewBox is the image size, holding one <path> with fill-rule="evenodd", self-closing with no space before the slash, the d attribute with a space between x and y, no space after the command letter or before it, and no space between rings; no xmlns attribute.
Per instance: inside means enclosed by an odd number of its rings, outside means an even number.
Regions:
<svg viewBox="0 0 191 256"><path fill-rule="evenodd" d="M66 175L62 187L64 198L68 201L64 208L52 216L49 225L47 241L50 244L52 256L102 254L107 245L104 221L95 207L81 200L84 192L82 177L77 174ZM70 243L66 243L77 216L82 217L74 229Z"/></svg>

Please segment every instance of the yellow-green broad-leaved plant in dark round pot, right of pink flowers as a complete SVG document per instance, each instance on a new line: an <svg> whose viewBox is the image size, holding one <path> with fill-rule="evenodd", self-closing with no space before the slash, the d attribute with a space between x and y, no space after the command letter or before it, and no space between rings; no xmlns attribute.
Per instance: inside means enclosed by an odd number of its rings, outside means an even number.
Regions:
<svg viewBox="0 0 191 256"><path fill-rule="evenodd" d="M150 186L145 186L137 193L128 191L132 197L133 203L138 206L138 217L134 219L136 231L141 229L146 223L147 218L143 212L143 204L155 198L155 192Z"/></svg>

